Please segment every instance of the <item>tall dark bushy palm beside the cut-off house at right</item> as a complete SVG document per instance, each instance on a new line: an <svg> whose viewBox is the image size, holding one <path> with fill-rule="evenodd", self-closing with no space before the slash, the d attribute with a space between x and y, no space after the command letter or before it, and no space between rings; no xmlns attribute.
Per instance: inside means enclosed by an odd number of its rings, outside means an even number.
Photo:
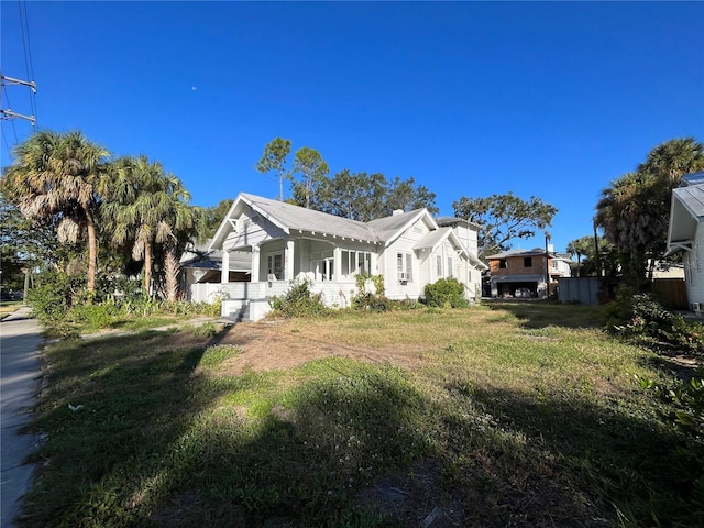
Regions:
<svg viewBox="0 0 704 528"><path fill-rule="evenodd" d="M602 190L596 222L614 244L624 276L641 288L664 253L672 189L704 168L704 146L693 138L656 146L637 170Z"/></svg>

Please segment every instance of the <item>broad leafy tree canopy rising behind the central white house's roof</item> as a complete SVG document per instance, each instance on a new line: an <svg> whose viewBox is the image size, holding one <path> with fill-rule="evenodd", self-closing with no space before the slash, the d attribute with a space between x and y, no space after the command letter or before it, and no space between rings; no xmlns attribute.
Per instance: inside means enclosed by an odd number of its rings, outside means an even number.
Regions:
<svg viewBox="0 0 704 528"><path fill-rule="evenodd" d="M425 207L436 213L435 199L436 195L425 186L416 187L413 177L389 182L381 173L351 173L345 168L322 182L310 208L369 222L392 215L394 209L409 211Z"/></svg>

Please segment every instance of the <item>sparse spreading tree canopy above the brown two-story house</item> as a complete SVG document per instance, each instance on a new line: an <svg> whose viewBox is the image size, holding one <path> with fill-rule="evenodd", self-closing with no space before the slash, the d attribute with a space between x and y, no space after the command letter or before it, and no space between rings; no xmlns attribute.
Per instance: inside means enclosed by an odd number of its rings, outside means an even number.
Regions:
<svg viewBox="0 0 704 528"><path fill-rule="evenodd" d="M510 249L514 239L534 237L536 230L546 231L558 212L556 207L536 196L526 201L510 191L487 198L463 196L452 207L455 217L480 224L480 257Z"/></svg>

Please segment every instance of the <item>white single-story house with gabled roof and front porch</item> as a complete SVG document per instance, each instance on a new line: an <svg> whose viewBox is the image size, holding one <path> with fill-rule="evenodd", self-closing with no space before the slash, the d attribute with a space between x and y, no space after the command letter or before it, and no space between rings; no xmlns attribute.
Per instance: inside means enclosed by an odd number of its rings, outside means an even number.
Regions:
<svg viewBox="0 0 704 528"><path fill-rule="evenodd" d="M311 279L328 306L349 306L361 273L383 275L392 299L418 299L427 284L455 277L474 300L486 268L476 256L476 226L464 220L438 222L418 209L365 223L248 194L234 200L209 250L222 251L221 283L191 288L208 287L207 295L223 298L224 317L245 320L264 317L295 278ZM231 282L233 252L250 254L246 280Z"/></svg>

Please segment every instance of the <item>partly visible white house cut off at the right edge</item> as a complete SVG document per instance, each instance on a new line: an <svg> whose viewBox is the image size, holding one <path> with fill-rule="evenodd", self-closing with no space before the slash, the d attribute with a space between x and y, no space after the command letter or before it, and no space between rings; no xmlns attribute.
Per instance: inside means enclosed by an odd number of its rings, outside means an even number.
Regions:
<svg viewBox="0 0 704 528"><path fill-rule="evenodd" d="M690 309L704 310L704 170L682 177L672 190L667 255L683 252Z"/></svg>

